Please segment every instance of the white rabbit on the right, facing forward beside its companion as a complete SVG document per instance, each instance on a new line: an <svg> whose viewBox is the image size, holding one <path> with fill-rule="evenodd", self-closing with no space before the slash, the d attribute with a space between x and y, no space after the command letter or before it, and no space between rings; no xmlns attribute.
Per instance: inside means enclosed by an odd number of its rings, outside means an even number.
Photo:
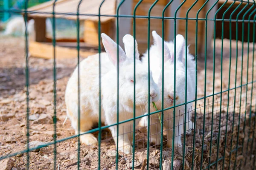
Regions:
<svg viewBox="0 0 256 170"><path fill-rule="evenodd" d="M160 92L162 94L162 38L156 33L156 31L152 32L154 38L154 45L151 46L150 53L150 68L152 70L154 81L158 83L160 88ZM185 57L185 40L182 35L176 36L176 105L182 104L185 102L185 65L184 65L184 57ZM173 106L174 100L174 49L172 42L164 42L164 108L169 108ZM190 56L189 56L190 57ZM188 60L190 60L189 58ZM148 51L143 55L142 61L148 63ZM190 65L191 64L191 65ZM194 62L191 60L188 62L188 68L191 71L195 72ZM190 73L188 69L187 75L187 101L191 101L195 97L194 91L194 82L195 78ZM192 82L193 81L193 82ZM192 83L191 83L192 82ZM157 109L161 109L161 100L156 102ZM192 103L187 104L187 112L191 111ZM154 111L154 108L151 107L151 112ZM182 146L181 135L183 134L183 125L184 125L184 109L185 106L181 105L176 107L175 109L175 146ZM169 109L164 111L164 126L168 130L168 147L172 147L172 135L173 135L173 109ZM180 115L180 116L179 116ZM161 117L161 115L160 115ZM147 126L148 120L147 117L143 117L140 121L140 126ZM156 144L160 143L160 131L161 126L159 122L159 117L157 114L151 116L151 139L150 141ZM186 130L193 128L193 123L190 120L190 116L186 116ZM179 147L179 151L180 151Z"/></svg>

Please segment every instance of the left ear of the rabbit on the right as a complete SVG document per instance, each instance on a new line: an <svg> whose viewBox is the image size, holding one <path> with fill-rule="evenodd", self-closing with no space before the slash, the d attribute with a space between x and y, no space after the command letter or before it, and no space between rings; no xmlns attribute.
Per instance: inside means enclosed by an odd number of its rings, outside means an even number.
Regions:
<svg viewBox="0 0 256 170"><path fill-rule="evenodd" d="M171 57L171 53L169 51L169 48L168 48L168 45L166 44L166 42L163 42L163 39L157 34L156 31L152 31L152 36L154 39L154 44L157 45L159 54L162 54L162 51L163 51L164 62L166 62L168 60L173 61L173 59ZM163 45L162 45L162 43L163 43ZM163 46L163 49L162 49L162 46ZM160 57L162 57L162 55Z"/></svg>

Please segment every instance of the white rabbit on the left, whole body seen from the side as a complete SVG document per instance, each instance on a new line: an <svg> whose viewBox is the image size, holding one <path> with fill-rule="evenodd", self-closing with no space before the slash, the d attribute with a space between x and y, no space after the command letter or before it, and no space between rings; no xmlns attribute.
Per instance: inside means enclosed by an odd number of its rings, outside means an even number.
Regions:
<svg viewBox="0 0 256 170"><path fill-rule="evenodd" d="M125 52L119 46L119 87L117 87L117 44L102 33L102 43L106 53L101 53L101 121L106 125L117 123L117 89L119 88L119 122L134 116L134 38L123 37ZM148 107L148 67L139 60L136 42L136 116L145 113ZM150 101L157 102L160 91L150 72ZM78 134L78 68L70 77L65 94L67 116ZM99 121L99 54L87 57L80 63L80 133L90 130ZM131 153L133 121L109 127L118 150ZM91 133L80 136L82 143L97 144L96 137Z"/></svg>

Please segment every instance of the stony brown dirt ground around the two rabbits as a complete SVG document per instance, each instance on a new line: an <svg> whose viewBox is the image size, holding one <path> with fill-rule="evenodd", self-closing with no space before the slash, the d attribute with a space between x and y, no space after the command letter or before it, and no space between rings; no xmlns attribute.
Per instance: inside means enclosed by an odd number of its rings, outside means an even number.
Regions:
<svg viewBox="0 0 256 170"><path fill-rule="evenodd" d="M213 53L207 55L207 69L205 70L204 59L198 61L198 102L197 102L197 127L195 129L195 145L193 136L186 135L186 146L190 150L185 156L185 164L182 164L182 155L175 152L176 169L184 166L194 170L202 164L203 168L218 160L218 169L244 166L252 167L255 162L256 140L255 130L255 105L256 105L256 74L253 75L253 45L250 43L247 53L247 43L244 44L243 60L241 57L242 43L238 44L238 60L236 75L236 44L232 41L230 83L229 83L229 61L230 42L224 40L223 48L223 75L221 86L221 40L216 40L215 54L215 84L213 86ZM0 157L15 154L8 161L14 163L12 169L23 170L27 164L27 154L19 153L26 150L27 129L27 100L26 83L29 83L29 141L40 141L44 143L53 142L54 115L53 104L53 60L29 58L29 82L26 82L24 72L25 65L24 39L20 37L0 37ZM247 55L248 54L248 55ZM249 60L247 60L247 58ZM242 64L243 61L243 64ZM248 61L248 62L247 62ZM56 88L56 116L57 116L57 139L65 139L73 136L74 130L70 126L70 120L64 123L66 118L66 107L64 104L64 91L67 81L73 69L76 67L77 59L58 59L57 88ZM248 66L247 66L248 64ZM247 70L248 68L248 70ZM255 71L254 71L255 72ZM205 81L206 74L206 81ZM248 78L247 78L248 75ZM253 77L254 76L254 77ZM237 77L237 78L236 78ZM206 85L204 85L206 82ZM249 82L248 85L246 83ZM236 83L236 87L234 88ZM230 86L229 86L230 84ZM245 84L245 85L244 85ZM215 90L213 91L213 87ZM225 91L221 94L221 91ZM228 88L232 89L229 92ZM247 93L246 93L247 89ZM204 101L204 92L206 99ZM214 99L212 94L216 94ZM229 96L228 96L229 93ZM235 95L236 94L236 95ZM252 99L251 99L252 96ZM213 99L213 100L212 100ZM236 99L236 100L235 100ZM214 102L213 102L214 101ZM229 106L227 106L229 105ZM212 112L213 108L213 112ZM195 117L195 110L192 111ZM205 123L204 123L205 122ZM63 124L64 123L64 124ZM240 124L239 124L240 123ZM194 130L193 130L194 132ZM98 136L97 133L94 133ZM203 139L204 135L204 139ZM218 137L219 135L219 137ZM219 140L218 140L219 139ZM166 140L166 137L165 137ZM78 165L78 139L77 137L58 142L56 144L56 168L62 170L77 169ZM136 131L135 142L135 169L143 169L143 161L146 160L147 130L139 128ZM39 144L38 142L36 144ZM219 145L218 145L219 144ZM171 148L166 147L164 142L163 169L169 169L171 160ZM35 145L33 145L35 146ZM225 147L226 146L226 147ZM29 153L29 167L33 170L49 170L54 166L54 145L42 147L38 151ZM195 161L192 165L192 148L195 148ZM203 154L201 154L203 148ZM226 150L224 150L224 148ZM80 167L81 169L98 168L98 146L80 145ZM151 145L149 169L159 169L160 146ZM218 150L218 152L217 152ZM219 153L217 155L217 153ZM104 170L116 169L116 147L108 130L102 131L102 142L100 148L101 168ZM201 155L203 155L201 163ZM211 160L209 160L211 158ZM7 160L7 159L6 159ZM130 169L132 155L119 153L118 169ZM3 163L3 162L2 162ZM11 163L11 164L12 164ZM4 163L3 163L4 164ZM215 169L213 164L210 169Z"/></svg>

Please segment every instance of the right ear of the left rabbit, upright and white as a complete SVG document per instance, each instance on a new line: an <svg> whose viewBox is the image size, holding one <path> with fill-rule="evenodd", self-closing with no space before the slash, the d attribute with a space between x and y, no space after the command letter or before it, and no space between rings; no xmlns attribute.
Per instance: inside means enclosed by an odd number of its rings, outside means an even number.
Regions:
<svg viewBox="0 0 256 170"><path fill-rule="evenodd" d="M134 58L134 37L130 34L126 34L123 37L123 43L125 44L125 53L128 58ZM138 51L138 44L135 40L135 57L139 59L140 53Z"/></svg>

